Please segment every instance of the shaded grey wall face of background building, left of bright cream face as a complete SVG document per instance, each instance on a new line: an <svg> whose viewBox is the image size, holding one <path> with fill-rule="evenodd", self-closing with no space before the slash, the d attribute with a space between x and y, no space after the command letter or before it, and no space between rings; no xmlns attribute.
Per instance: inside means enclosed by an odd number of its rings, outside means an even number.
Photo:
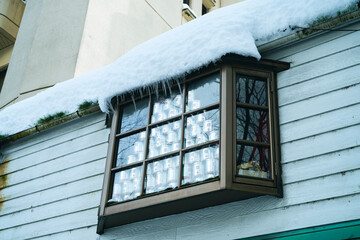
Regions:
<svg viewBox="0 0 360 240"><path fill-rule="evenodd" d="M28 1L0 107L74 76L88 0Z"/></svg>

